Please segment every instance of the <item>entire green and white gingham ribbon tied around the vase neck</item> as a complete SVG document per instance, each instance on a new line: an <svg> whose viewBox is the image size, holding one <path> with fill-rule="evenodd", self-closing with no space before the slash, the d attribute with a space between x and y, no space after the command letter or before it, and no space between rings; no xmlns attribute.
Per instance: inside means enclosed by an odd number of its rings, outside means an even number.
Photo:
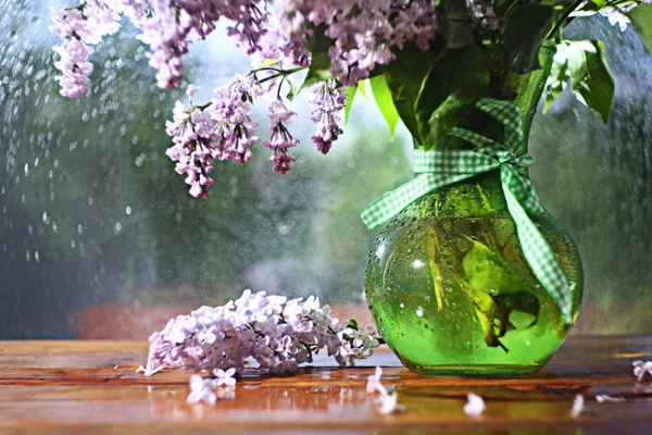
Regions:
<svg viewBox="0 0 652 435"><path fill-rule="evenodd" d="M361 214L362 220L367 228L374 229L435 189L500 169L507 209L516 224L523 253L535 276L560 307L566 323L570 323L572 300L568 279L552 248L527 214L541 213L543 207L535 194L530 179L518 171L519 166L527 167L532 162L532 158L527 153L515 156L517 147L524 139L518 105L512 101L482 98L476 108L504 126L505 145L467 129L452 128L449 135L471 142L477 148L415 150L414 179L367 207Z"/></svg>

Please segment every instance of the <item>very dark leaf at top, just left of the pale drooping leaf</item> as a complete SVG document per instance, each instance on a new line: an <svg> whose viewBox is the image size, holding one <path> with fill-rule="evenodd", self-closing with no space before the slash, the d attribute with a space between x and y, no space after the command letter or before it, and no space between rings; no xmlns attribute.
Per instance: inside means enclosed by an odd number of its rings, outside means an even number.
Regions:
<svg viewBox="0 0 652 435"><path fill-rule="evenodd" d="M523 4L507 18L503 30L504 50L510 67L518 73L538 70L538 53L552 28L554 9Z"/></svg>

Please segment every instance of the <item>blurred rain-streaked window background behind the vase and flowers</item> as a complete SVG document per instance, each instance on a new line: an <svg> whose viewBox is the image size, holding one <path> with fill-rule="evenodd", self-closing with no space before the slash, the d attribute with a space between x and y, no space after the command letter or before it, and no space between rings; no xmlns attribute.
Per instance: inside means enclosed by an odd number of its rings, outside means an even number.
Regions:
<svg viewBox="0 0 652 435"><path fill-rule="evenodd" d="M193 199L165 156L165 120L183 90L155 86L147 49L125 26L91 58L90 97L61 97L48 3L0 0L0 338L146 338L173 314L244 288L365 314L376 232L359 213L412 177L404 129L391 141L359 94L324 157L299 99L290 173L272 172L259 145L244 166L217 163L211 198ZM538 194L584 261L576 332L652 333L652 58L631 28L602 16L567 37L609 41L616 77L606 125L566 92L530 140ZM248 69L218 30L191 47L186 72L200 101ZM264 108L255 114L265 137Z"/></svg>

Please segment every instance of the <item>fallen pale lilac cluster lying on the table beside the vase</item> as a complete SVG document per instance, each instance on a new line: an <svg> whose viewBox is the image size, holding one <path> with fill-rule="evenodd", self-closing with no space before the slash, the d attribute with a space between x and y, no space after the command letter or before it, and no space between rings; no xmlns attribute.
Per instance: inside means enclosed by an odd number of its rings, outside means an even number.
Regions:
<svg viewBox="0 0 652 435"><path fill-rule="evenodd" d="M199 372L235 369L248 359L266 373L294 372L325 348L340 365L368 358L378 340L354 322L337 325L328 306L244 290L235 302L172 319L150 337L146 374L161 366ZM216 372L214 372L216 373Z"/></svg>

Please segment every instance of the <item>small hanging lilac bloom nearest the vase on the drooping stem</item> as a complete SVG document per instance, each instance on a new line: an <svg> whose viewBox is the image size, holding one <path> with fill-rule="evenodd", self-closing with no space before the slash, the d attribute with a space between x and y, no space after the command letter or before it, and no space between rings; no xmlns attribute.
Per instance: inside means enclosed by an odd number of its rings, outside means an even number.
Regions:
<svg viewBox="0 0 652 435"><path fill-rule="evenodd" d="M337 123L344 111L347 92L342 86L338 87L336 80L317 83L308 90L310 92L309 117L317 123L317 132L312 137L312 141L323 154L326 154L330 151L333 142L343 133Z"/></svg>

